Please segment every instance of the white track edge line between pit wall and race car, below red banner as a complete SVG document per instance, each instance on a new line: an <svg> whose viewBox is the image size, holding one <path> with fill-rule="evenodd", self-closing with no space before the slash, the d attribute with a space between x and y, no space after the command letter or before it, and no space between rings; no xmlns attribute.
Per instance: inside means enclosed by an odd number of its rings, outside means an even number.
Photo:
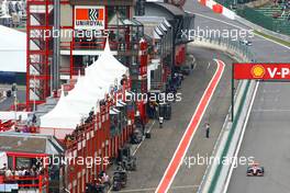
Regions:
<svg viewBox="0 0 290 193"><path fill-rule="evenodd" d="M243 129L242 129L241 138L239 138L239 140L238 140L238 144L237 144L237 148L236 148L236 150L235 150L235 156L234 156L234 158L237 157L237 154L238 154L239 148L241 148L241 146L242 146L242 141L243 141L243 139L244 139L244 135L245 135L245 130L246 130L246 127L247 127L247 123L248 123L249 114L250 114L250 112L252 112L252 109L253 109L253 105L254 105L254 101L255 101L255 99L256 99L256 94L257 94L258 87L259 87L259 82L257 82L256 88L255 88L255 90L254 90L254 94L253 94L253 98L252 98L252 101L250 101L250 104L249 104L249 109L248 109L248 111L247 111L246 120L245 120L244 125L243 125ZM234 170L234 164L231 166L230 173L228 173L228 175L227 175L227 178L226 178L226 182L225 182L225 185L224 185L224 191L223 191L223 193L226 193L226 192L227 192L228 184L230 184L230 181L231 181L231 177L232 177L232 174L233 174L233 170Z"/></svg>

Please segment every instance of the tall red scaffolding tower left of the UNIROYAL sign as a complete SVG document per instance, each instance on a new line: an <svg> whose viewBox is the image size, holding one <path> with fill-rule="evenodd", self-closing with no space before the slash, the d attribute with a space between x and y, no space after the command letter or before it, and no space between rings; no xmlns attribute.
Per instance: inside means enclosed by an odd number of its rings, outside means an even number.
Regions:
<svg viewBox="0 0 290 193"><path fill-rule="evenodd" d="M54 1L27 0L26 14L26 105L31 107L51 94Z"/></svg>

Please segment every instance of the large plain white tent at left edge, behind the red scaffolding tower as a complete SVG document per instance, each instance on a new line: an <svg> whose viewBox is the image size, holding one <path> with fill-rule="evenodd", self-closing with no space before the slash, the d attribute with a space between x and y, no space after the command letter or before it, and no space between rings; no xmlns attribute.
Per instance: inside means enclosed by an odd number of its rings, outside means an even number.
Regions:
<svg viewBox="0 0 290 193"><path fill-rule="evenodd" d="M0 25L0 71L26 71L26 34Z"/></svg>

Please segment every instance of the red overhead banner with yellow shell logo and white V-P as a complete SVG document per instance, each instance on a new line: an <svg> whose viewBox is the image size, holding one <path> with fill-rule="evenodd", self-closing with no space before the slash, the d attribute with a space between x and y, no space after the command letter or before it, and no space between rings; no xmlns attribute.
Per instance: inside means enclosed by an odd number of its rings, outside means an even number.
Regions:
<svg viewBox="0 0 290 193"><path fill-rule="evenodd" d="M290 80L290 64L233 64L234 79Z"/></svg>

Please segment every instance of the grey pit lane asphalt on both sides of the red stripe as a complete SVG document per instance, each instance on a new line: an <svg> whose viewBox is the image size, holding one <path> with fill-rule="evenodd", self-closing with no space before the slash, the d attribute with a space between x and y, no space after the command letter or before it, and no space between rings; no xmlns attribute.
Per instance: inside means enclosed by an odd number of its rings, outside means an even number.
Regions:
<svg viewBox="0 0 290 193"><path fill-rule="evenodd" d="M158 128L157 124L154 125L152 138L146 139L136 151L137 171L129 174L127 186L121 192L155 192L204 90L216 70L216 63L213 61L213 58L220 58L227 66L186 157L196 157L198 154L203 156L210 155L213 149L231 103L231 68L228 65L233 60L220 52L193 48L191 46L189 46L188 53L197 57L198 65L193 73L186 77L182 89L179 91L182 92L182 101L174 104L172 118L164 123L164 128ZM210 139L205 138L205 122L211 124ZM168 192L194 192L198 189L205 168L207 166L189 167L183 162Z"/></svg>

